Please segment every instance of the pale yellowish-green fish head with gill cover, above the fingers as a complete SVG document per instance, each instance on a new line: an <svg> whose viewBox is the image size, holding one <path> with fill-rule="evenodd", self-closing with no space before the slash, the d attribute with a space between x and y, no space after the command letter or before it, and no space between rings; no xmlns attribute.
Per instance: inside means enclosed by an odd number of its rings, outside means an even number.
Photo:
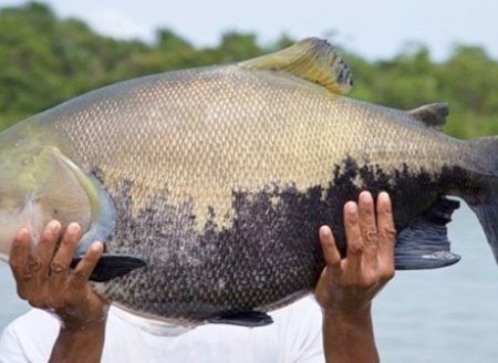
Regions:
<svg viewBox="0 0 498 363"><path fill-rule="evenodd" d="M29 229L34 248L43 227L53 219L62 228L72 221L80 224L83 238L76 255L83 255L93 239L103 240L113 229L113 214L98 182L56 146L43 145L40 138L0 139L1 260L8 260L19 229Z"/></svg>

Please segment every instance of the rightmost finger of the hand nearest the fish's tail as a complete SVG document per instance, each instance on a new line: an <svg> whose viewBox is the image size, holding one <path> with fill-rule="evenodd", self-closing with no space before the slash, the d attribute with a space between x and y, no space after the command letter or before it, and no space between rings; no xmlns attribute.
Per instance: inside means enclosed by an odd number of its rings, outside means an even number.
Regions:
<svg viewBox="0 0 498 363"><path fill-rule="evenodd" d="M381 273L391 279L394 276L394 245L396 229L394 227L391 198L383 191L377 197L378 256Z"/></svg>

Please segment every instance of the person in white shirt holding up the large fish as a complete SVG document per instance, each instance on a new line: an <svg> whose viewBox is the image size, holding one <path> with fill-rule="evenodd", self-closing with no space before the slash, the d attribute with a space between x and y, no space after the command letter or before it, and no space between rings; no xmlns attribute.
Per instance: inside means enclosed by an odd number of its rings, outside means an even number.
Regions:
<svg viewBox="0 0 498 363"><path fill-rule="evenodd" d="M37 312L11 324L0 340L0 362L136 362L137 353L144 362L322 362L323 356L326 362L376 362L371 305L394 276L391 200L381 193L374 205L372 195L363 191L357 204L345 204L343 212L345 258L341 258L331 229L323 226L319 231L326 262L314 290L321 313L310 299L298 301L282 309L288 312L276 313L270 325L276 326L274 332L267 326L208 324L179 332L168 325L168 333L162 334L152 321L114 307L114 315L107 318L108 302L89 283L103 253L102 243L94 242L71 269L81 238L79 225L71 224L63 232L59 222L50 222L34 251L30 231L21 229L10 253L18 293L55 319ZM185 344L196 331L200 331L198 336ZM123 340L126 335L127 341ZM287 340L288 346L276 336ZM267 351L269 346L273 352Z"/></svg>

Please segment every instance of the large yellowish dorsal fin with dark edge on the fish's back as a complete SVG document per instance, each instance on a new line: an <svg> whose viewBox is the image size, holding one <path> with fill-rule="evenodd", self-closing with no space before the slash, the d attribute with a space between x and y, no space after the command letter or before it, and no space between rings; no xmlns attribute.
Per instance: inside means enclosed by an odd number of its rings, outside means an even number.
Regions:
<svg viewBox="0 0 498 363"><path fill-rule="evenodd" d="M346 94L353 86L347 64L329 42L318 38L304 39L279 52L248 60L239 65L245 69L288 72L338 94Z"/></svg>

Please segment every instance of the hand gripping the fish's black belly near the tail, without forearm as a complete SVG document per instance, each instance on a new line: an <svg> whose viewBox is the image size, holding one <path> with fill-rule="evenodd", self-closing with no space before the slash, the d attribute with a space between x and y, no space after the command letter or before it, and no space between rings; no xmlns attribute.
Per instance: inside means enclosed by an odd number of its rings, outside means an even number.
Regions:
<svg viewBox="0 0 498 363"><path fill-rule="evenodd" d="M386 193L377 199L360 195L359 204L344 206L347 257L341 259L329 227L320 229L326 267L318 282L317 299L325 312L356 314L370 309L372 299L394 276L395 230Z"/></svg>

